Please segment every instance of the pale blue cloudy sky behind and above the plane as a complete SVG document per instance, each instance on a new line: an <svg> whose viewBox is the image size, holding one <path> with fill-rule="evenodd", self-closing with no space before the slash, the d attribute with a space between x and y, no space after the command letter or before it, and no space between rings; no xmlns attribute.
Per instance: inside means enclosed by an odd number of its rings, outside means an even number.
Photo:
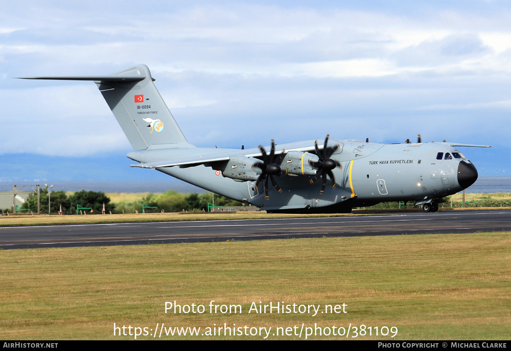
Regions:
<svg viewBox="0 0 511 351"><path fill-rule="evenodd" d="M0 0L0 188L177 184L132 151L92 82L144 63L187 139L245 148L369 138L462 148L480 176L511 171L507 1ZM8 189L7 189L8 190Z"/></svg>

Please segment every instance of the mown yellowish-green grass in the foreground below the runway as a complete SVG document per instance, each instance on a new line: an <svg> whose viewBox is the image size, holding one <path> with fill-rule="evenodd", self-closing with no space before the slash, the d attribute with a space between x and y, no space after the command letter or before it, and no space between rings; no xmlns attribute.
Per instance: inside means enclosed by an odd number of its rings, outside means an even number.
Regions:
<svg viewBox="0 0 511 351"><path fill-rule="evenodd" d="M508 339L509 267L509 232L2 250L0 335L133 339L114 336L113 324L153 334L157 323L201 327L201 333L226 323L271 327L269 339L298 339L272 334L295 325L299 332L302 323L312 328L351 323L378 327L380 333L382 327L398 330L390 338L374 336L373 329L371 337L366 328L358 339ZM165 302L174 300L204 305L206 312L166 314ZM211 300L241 305L242 313L208 313ZM247 313L252 302L344 303L347 313ZM353 335L352 329L350 339ZM263 337L164 332L162 338Z"/></svg>

